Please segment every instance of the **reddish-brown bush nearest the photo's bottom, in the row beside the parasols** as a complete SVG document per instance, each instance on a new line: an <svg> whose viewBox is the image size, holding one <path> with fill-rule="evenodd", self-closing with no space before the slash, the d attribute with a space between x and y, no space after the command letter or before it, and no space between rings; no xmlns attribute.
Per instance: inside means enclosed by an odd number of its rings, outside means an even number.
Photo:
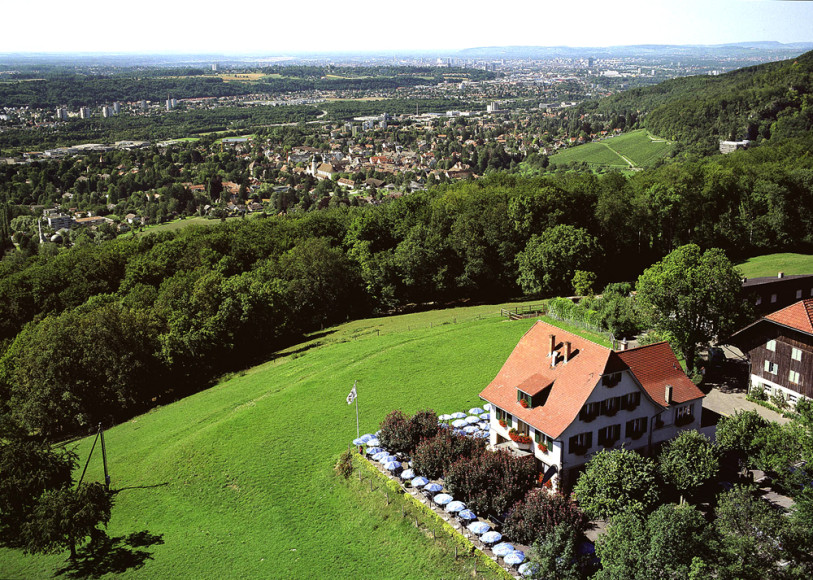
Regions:
<svg viewBox="0 0 813 580"><path fill-rule="evenodd" d="M587 521L571 498L532 489L505 520L505 534L516 542L531 545L551 534L559 524L569 526L578 535L586 529Z"/></svg>

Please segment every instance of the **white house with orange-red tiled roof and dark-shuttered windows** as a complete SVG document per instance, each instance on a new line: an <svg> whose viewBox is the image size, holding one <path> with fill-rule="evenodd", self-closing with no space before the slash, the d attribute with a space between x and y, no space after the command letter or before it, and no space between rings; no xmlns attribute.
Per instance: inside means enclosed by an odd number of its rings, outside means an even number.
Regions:
<svg viewBox="0 0 813 580"><path fill-rule="evenodd" d="M569 490L601 449L651 454L698 429L704 395L665 342L614 351L540 321L480 397L492 405L490 445L533 455Z"/></svg>

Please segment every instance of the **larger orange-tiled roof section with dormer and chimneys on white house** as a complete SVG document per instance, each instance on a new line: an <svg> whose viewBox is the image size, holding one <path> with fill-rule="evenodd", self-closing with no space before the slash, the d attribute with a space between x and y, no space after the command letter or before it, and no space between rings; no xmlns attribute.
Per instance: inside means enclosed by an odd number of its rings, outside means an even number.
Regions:
<svg viewBox="0 0 813 580"><path fill-rule="evenodd" d="M554 368L549 356L551 334L558 353ZM563 360L566 341L572 353L567 363ZM612 372L605 371L608 365L619 366L609 348L540 321L520 339L480 397L555 439L579 414L601 375ZM517 401L517 388L533 395L551 383L544 406L525 409Z"/></svg>

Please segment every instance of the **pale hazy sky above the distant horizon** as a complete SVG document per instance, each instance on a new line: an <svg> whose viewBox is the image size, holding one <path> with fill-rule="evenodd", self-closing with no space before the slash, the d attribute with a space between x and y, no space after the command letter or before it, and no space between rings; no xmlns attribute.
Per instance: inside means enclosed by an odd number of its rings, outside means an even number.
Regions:
<svg viewBox="0 0 813 580"><path fill-rule="evenodd" d="M378 0L7 2L0 52L459 49L813 41L813 2Z"/></svg>

